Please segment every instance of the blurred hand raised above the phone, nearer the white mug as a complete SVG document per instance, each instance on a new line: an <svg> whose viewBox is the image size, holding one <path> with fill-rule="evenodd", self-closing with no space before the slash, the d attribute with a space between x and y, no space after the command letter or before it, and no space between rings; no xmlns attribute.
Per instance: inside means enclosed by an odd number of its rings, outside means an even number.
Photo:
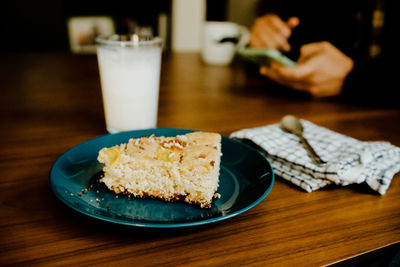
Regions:
<svg viewBox="0 0 400 267"><path fill-rule="evenodd" d="M288 39L292 34L292 29L299 23L297 17L291 17L285 22L275 14L257 18L250 30L250 46L288 52L290 51Z"/></svg>

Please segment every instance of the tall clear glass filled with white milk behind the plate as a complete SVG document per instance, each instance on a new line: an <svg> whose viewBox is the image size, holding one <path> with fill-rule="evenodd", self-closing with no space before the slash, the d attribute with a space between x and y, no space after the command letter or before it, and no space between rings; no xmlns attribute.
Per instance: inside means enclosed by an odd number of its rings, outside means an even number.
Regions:
<svg viewBox="0 0 400 267"><path fill-rule="evenodd" d="M96 42L107 131L155 128L162 39L135 34Z"/></svg>

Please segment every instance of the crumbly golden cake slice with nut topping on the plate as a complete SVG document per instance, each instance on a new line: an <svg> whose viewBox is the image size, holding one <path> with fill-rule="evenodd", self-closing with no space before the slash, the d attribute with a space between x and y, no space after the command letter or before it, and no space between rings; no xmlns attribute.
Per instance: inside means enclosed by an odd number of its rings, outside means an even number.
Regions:
<svg viewBox="0 0 400 267"><path fill-rule="evenodd" d="M211 207L217 197L221 136L193 132L176 137L142 137L103 148L101 182L115 193L184 200Z"/></svg>

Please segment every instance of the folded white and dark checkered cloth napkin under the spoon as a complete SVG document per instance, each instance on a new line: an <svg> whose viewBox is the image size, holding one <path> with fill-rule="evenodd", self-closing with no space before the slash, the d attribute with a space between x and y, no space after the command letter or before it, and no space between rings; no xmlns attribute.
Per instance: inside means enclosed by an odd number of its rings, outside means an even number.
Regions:
<svg viewBox="0 0 400 267"><path fill-rule="evenodd" d="M275 173L307 192L329 184L346 186L366 182L384 195L400 171L400 148L388 142L361 142L309 121L301 120L304 137L324 160L317 165L299 138L279 124L243 129L232 138L251 141L267 156Z"/></svg>

